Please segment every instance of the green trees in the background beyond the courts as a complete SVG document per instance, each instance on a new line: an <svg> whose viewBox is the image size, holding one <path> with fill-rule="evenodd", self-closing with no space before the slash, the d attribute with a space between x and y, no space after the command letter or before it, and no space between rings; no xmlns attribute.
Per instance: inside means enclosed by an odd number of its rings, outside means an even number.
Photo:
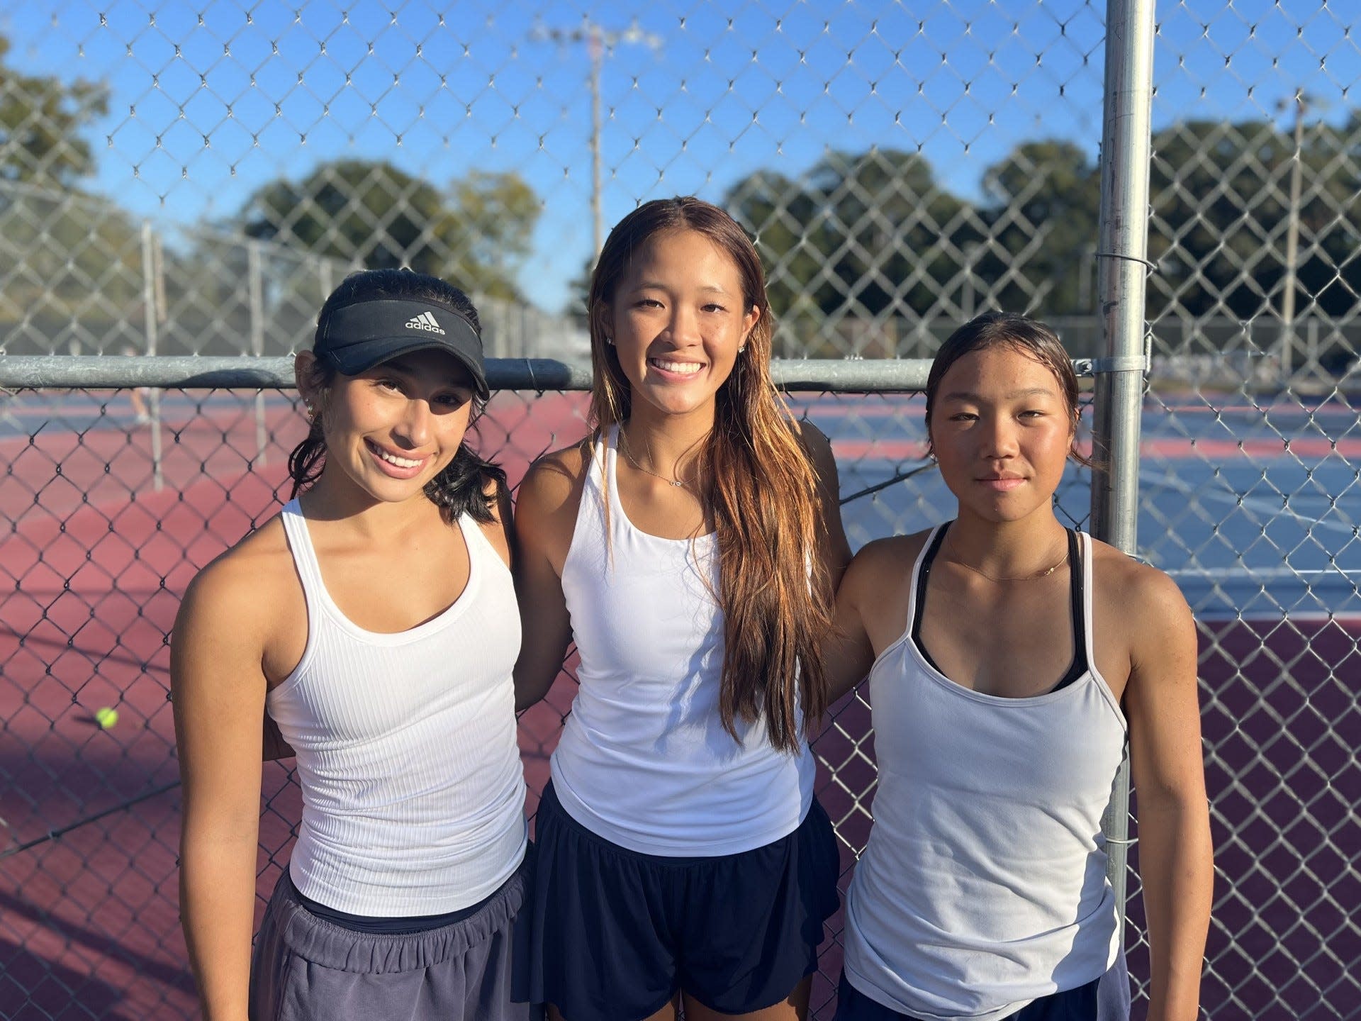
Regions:
<svg viewBox="0 0 1361 1021"><path fill-rule="evenodd" d="M0 37L0 184L80 196L94 170L84 132L106 112L108 91L20 75L5 64L7 49ZM1155 132L1153 151L1158 271L1149 316L1278 314L1292 132L1266 118L1190 120ZM1361 291L1361 112L1305 129L1300 176L1297 309L1342 317ZM829 152L798 177L753 173L723 201L757 238L785 320L958 316L984 304L1059 317L1094 312L1100 191L1083 148L1040 139L987 167L976 200L940 181L920 154L876 148ZM91 221L54 204L42 222L16 193L0 189L0 246L11 249L7 263L27 268L0 276L8 291L0 317L22 309L27 291L105 286L114 301L136 298L140 229L127 214L105 203ZM436 184L387 161L336 159L265 184L214 226L525 299L519 272L542 203L517 173ZM176 257L192 274L193 255Z"/></svg>

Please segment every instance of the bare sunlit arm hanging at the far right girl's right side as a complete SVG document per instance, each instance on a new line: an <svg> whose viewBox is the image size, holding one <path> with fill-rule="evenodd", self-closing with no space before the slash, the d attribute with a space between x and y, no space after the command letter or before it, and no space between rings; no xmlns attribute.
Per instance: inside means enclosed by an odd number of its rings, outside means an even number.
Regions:
<svg viewBox="0 0 1361 1021"><path fill-rule="evenodd" d="M1161 570L1124 560L1117 572L1130 656L1124 709L1153 964L1149 1017L1192 1021L1214 892L1195 621Z"/></svg>

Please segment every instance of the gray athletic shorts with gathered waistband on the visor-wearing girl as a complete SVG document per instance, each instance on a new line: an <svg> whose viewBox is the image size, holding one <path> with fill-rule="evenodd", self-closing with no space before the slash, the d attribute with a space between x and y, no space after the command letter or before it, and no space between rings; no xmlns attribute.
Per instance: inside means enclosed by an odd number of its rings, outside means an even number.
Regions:
<svg viewBox="0 0 1361 1021"><path fill-rule="evenodd" d="M355 933L320 919L284 873L250 958L250 1021L539 1018L528 1003L512 1002L528 869L521 863L474 915L410 935Z"/></svg>

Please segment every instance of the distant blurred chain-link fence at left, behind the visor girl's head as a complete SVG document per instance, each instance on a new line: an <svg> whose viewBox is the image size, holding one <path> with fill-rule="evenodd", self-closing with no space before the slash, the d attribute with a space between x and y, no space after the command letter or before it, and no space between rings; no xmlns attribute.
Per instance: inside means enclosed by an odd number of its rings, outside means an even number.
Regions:
<svg viewBox="0 0 1361 1021"><path fill-rule="evenodd" d="M133 222L108 201L0 178L0 351L279 355L359 259L226 230ZM587 351L569 317L474 293L498 358Z"/></svg>

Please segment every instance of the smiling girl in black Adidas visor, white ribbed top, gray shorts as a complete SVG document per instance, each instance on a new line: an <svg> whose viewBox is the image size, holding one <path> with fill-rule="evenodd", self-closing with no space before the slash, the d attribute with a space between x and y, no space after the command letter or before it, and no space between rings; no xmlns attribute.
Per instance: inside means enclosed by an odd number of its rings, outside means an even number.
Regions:
<svg viewBox="0 0 1361 1021"><path fill-rule="evenodd" d="M352 274L297 378L294 498L203 569L174 629L204 1016L527 1018L520 618L505 474L465 441L487 399L476 310L431 276ZM252 956L265 709L302 821Z"/></svg>

